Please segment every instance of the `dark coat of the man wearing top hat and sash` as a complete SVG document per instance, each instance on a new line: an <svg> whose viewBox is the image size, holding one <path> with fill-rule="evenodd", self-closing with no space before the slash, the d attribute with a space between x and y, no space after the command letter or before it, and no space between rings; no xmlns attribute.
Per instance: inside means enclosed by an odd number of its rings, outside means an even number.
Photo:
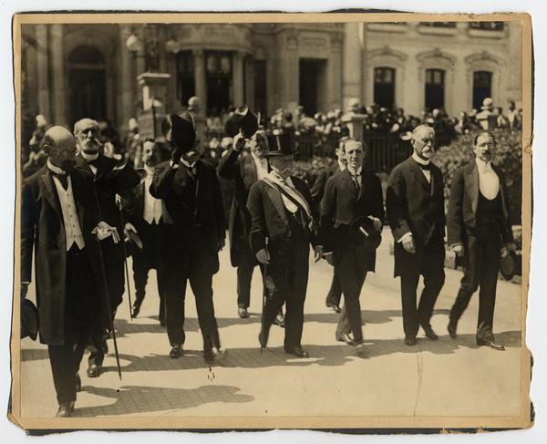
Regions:
<svg viewBox="0 0 547 444"><path fill-rule="evenodd" d="M317 214L312 205L312 195L306 183L294 176L291 176L294 188L304 196L310 205L312 218L316 221ZM251 214L250 243L253 253L260 252L266 248L266 238L270 243L290 243L293 232L284 207L281 191L272 187L265 181L257 181L249 191L247 208ZM317 237L314 230L310 230L312 244L316 244Z"/></svg>

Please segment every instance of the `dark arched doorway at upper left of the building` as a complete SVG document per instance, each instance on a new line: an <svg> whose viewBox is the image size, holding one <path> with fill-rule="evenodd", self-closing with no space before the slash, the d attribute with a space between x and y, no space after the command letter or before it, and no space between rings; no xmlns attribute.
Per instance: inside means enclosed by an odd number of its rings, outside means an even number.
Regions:
<svg viewBox="0 0 547 444"><path fill-rule="evenodd" d="M107 119L107 75L105 60L93 46L77 46L68 56L70 121Z"/></svg>

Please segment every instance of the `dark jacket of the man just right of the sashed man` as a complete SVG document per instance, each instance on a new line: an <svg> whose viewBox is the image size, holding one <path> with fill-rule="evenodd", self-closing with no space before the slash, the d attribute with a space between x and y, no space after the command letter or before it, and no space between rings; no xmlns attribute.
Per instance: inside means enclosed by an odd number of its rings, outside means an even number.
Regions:
<svg viewBox="0 0 547 444"><path fill-rule="evenodd" d="M362 172L361 187L357 191L348 170L338 171L325 185L321 201L321 235L325 251L332 252L338 247L348 248L349 225L357 217L374 216L384 220L382 187L376 174ZM376 252L368 254L367 271L374 271Z"/></svg>

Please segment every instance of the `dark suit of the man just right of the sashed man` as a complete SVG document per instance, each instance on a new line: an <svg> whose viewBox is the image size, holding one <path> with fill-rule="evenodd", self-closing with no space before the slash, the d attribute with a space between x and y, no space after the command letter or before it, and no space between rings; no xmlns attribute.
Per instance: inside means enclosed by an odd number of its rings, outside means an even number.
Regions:
<svg viewBox="0 0 547 444"><path fill-rule="evenodd" d="M321 241L325 252L333 252L335 276L344 293L344 308L336 328L338 336L353 333L363 339L359 295L366 272L374 271L376 252L365 253L349 236L349 225L359 216L384 219L382 187L376 175L362 173L360 190L348 170L335 173L325 186L321 201Z"/></svg>

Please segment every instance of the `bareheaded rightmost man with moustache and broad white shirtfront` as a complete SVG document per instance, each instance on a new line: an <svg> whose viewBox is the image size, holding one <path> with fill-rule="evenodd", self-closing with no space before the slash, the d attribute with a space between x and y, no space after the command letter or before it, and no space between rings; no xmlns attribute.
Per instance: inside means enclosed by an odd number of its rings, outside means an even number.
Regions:
<svg viewBox="0 0 547 444"><path fill-rule="evenodd" d="M480 287L477 345L504 350L494 340L492 325L500 255L515 251L505 179L496 167L496 139L481 132L474 139L475 161L454 175L449 197L449 245L462 256L463 277L450 310L449 335L456 337L459 318Z"/></svg>

